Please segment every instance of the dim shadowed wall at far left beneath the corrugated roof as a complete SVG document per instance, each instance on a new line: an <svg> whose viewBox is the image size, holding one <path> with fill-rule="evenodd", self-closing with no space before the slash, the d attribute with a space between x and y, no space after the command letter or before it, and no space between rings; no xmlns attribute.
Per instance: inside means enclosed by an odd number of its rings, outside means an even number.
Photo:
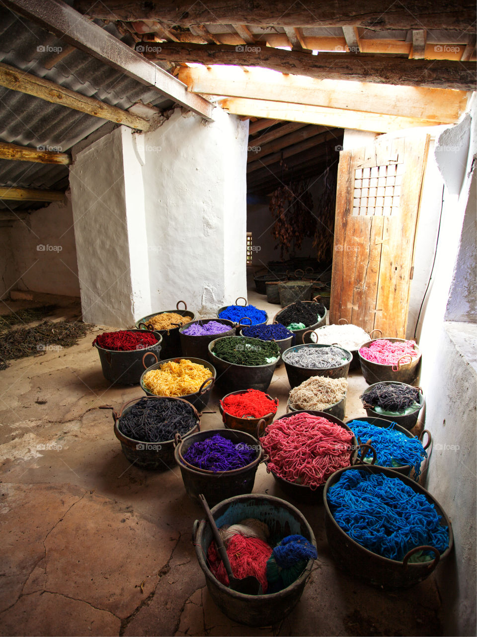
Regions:
<svg viewBox="0 0 477 637"><path fill-rule="evenodd" d="M79 296L78 265L69 199L33 211L1 233L9 244L8 287L18 290ZM38 249L44 247L44 250Z"/></svg>

